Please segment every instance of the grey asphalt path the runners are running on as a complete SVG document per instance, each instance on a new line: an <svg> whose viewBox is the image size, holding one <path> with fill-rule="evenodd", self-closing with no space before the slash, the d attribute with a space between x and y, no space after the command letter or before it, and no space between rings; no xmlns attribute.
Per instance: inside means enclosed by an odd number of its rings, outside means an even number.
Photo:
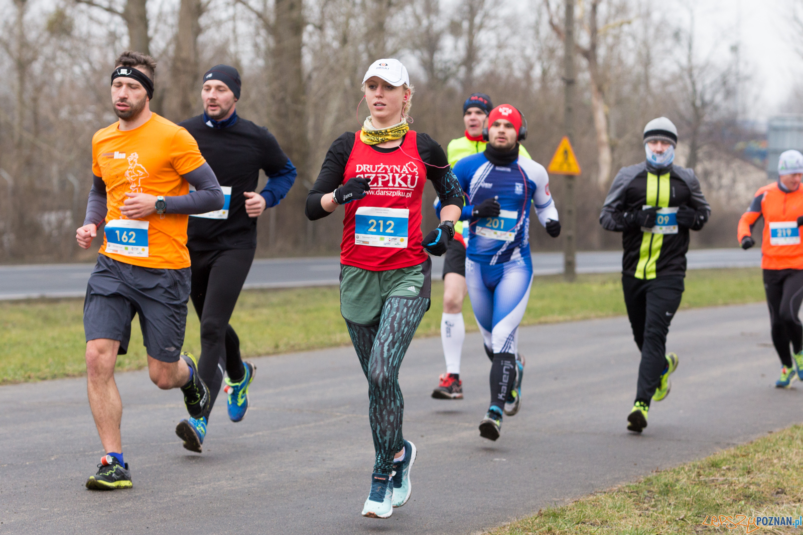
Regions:
<svg viewBox="0 0 803 535"><path fill-rule="evenodd" d="M638 367L628 330L625 318L523 328L523 407L497 442L477 431L489 368L479 335L467 336L462 401L429 397L440 341L415 340L401 372L414 492L386 521L360 516L373 446L349 347L255 359L251 411L232 424L215 407L202 455L173 435L178 391L118 375L127 491L84 488L102 455L84 379L0 387L0 533L467 535L803 419L800 383L772 387L778 360L755 304L680 312L671 395L642 436L626 432Z"/></svg>

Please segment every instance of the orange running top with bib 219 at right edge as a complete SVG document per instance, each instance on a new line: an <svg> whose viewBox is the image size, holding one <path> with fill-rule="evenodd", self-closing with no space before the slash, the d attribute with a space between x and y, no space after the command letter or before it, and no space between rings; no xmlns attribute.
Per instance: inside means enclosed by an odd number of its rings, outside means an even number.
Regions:
<svg viewBox="0 0 803 535"><path fill-rule="evenodd" d="M797 228L797 217L803 216L803 188L785 193L777 182L759 188L739 220L736 239L740 243L752 234L752 225L762 216L761 268L803 270L803 243Z"/></svg>

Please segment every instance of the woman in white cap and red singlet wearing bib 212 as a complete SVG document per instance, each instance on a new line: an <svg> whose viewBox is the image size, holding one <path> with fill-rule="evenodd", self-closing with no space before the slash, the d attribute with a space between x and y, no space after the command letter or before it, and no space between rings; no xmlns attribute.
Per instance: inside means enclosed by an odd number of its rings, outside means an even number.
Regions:
<svg viewBox="0 0 803 535"><path fill-rule="evenodd" d="M364 517L387 518L410 499L416 448L402 437L404 399L398 371L430 307L426 252L446 252L463 192L442 148L407 124L413 87L397 59L379 59L363 78L371 116L329 148L307 197L307 217L346 205L340 244L340 313L369 383L376 462ZM432 181L441 224L422 236L422 193ZM426 250L425 250L426 249Z"/></svg>

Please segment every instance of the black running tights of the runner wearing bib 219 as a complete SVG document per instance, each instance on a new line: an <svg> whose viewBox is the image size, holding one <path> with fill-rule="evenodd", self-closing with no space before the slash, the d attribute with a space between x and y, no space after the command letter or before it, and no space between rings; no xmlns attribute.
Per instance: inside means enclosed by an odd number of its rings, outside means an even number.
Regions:
<svg viewBox="0 0 803 535"><path fill-rule="evenodd" d="M772 344L781 363L792 367L792 350L803 349L803 326L797 313L803 300L803 270L764 270L764 292L767 294Z"/></svg>

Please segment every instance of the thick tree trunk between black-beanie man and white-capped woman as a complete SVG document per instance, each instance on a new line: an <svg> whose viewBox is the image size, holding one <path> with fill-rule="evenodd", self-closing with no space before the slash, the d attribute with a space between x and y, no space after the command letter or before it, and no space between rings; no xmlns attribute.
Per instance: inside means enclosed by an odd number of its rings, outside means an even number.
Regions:
<svg viewBox="0 0 803 535"><path fill-rule="evenodd" d="M295 241L296 250L304 239L304 203L308 188L307 99L302 66L304 36L302 0L276 0L271 51L271 87L273 134L283 151L298 169L296 184L279 205L280 241ZM311 239L311 238L310 238Z"/></svg>

